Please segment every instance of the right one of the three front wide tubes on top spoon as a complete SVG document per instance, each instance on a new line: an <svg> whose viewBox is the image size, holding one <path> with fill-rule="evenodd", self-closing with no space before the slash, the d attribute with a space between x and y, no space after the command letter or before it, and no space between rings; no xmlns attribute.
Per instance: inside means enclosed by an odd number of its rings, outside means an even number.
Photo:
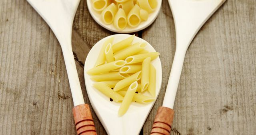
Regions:
<svg viewBox="0 0 256 135"><path fill-rule="evenodd" d="M137 27L140 24L140 7L136 4L129 12L127 16L128 25L131 27Z"/></svg>

